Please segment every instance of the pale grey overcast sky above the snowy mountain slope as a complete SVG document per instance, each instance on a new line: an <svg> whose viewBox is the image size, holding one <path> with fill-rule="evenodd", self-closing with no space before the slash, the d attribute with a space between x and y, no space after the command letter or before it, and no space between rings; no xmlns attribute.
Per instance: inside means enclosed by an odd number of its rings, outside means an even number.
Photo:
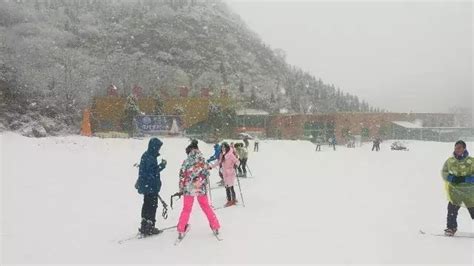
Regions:
<svg viewBox="0 0 474 266"><path fill-rule="evenodd" d="M227 0L290 64L395 112L473 105L465 2Z"/></svg>

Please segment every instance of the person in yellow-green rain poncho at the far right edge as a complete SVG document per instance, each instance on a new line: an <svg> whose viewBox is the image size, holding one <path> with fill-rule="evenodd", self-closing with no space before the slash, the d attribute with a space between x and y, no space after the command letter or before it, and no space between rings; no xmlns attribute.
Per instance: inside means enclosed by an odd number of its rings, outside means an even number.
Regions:
<svg viewBox="0 0 474 266"><path fill-rule="evenodd" d="M457 216L461 205L467 207L474 220L474 158L469 156L466 143L459 140L454 145L453 156L443 165L441 175L448 195L446 236L454 236L457 231Z"/></svg>

